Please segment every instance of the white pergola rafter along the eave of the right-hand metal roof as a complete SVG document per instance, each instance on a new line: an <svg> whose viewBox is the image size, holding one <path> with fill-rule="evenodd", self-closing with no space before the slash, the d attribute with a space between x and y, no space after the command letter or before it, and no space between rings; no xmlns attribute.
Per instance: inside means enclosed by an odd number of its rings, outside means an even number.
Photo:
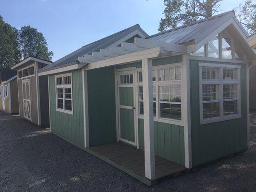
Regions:
<svg viewBox="0 0 256 192"><path fill-rule="evenodd" d="M160 41L152 41L149 39L134 38L134 44L140 48L155 48L163 47L165 51L176 52L176 53L187 53L187 46L178 45Z"/></svg>

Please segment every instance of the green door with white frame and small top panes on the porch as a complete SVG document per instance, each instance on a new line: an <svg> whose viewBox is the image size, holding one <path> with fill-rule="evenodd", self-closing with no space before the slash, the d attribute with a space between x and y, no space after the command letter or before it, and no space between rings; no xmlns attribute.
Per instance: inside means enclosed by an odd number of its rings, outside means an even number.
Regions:
<svg viewBox="0 0 256 192"><path fill-rule="evenodd" d="M119 140L136 146L134 71L117 73Z"/></svg>

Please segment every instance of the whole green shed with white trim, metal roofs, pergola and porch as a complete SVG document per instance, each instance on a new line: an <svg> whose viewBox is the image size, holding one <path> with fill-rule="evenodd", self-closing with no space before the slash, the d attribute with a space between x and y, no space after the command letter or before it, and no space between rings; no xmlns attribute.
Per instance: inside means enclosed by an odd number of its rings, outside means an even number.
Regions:
<svg viewBox="0 0 256 192"><path fill-rule="evenodd" d="M248 67L234 12L148 36L134 25L39 70L53 134L150 185L244 151Z"/></svg>

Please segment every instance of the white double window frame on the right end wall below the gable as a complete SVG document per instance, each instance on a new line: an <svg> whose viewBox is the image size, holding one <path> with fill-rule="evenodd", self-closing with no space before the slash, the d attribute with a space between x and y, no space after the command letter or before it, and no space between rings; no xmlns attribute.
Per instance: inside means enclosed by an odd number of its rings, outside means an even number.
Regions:
<svg viewBox="0 0 256 192"><path fill-rule="evenodd" d="M224 120L232 120L241 118L241 79L240 79L240 65L227 65L227 64L217 64L217 63L198 63L199 66L199 100L200 100L200 124L207 124L212 122L219 122ZM203 80L202 79L202 67L216 67L219 68L219 79L217 80ZM232 68L237 70L237 80L223 80L223 68ZM219 117L212 117L203 119L203 84L219 84ZM223 84L237 84L237 113L225 115L223 114ZM235 100L237 100L235 99ZM233 100L233 99L231 99Z"/></svg>

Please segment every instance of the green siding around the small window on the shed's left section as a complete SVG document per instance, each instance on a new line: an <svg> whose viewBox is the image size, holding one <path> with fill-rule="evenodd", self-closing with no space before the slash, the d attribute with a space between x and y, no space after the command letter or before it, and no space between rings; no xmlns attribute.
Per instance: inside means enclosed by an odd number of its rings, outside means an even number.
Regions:
<svg viewBox="0 0 256 192"><path fill-rule="evenodd" d="M49 75L50 124L53 133L71 143L84 147L84 111L82 70L72 73L73 115L56 111L55 75ZM61 74L61 73L59 73Z"/></svg>

